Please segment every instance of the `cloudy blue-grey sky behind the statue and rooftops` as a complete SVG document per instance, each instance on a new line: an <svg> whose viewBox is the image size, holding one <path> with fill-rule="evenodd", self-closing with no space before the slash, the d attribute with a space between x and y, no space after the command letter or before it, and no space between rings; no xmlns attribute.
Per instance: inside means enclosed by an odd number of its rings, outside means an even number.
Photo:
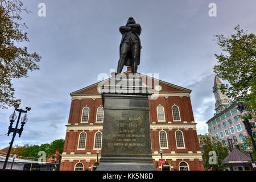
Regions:
<svg viewBox="0 0 256 182"><path fill-rule="evenodd" d="M133 16L141 24L140 73L159 73L160 80L191 89L197 133L214 113L214 53L221 49L213 35L229 35L240 24L256 32L255 0L22 0L32 11L22 14L30 52L42 56L40 71L13 81L20 108L30 106L22 137L14 144L42 144L65 138L69 93L97 82L99 73L117 69L119 26ZM38 16L45 3L46 16ZM216 3L217 16L209 16ZM124 68L126 70L126 68ZM0 110L0 148L9 145L6 134L13 108Z"/></svg>

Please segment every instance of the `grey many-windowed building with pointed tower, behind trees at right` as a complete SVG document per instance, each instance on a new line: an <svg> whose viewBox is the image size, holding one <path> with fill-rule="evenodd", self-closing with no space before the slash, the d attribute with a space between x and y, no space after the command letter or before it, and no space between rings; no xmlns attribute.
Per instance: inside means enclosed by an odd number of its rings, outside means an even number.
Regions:
<svg viewBox="0 0 256 182"><path fill-rule="evenodd" d="M243 143L243 138L248 134L242 122L243 119L238 117L240 113L237 110L237 105L238 102L243 102L246 111L251 110L250 106L242 99L228 100L225 94L220 91L221 85L222 82L215 76L213 93L216 98L215 110L217 113L214 113L214 117L207 121L209 137L211 140L220 140L223 146L228 145L228 138L232 139L233 143ZM255 119L250 119L249 122L255 135Z"/></svg>

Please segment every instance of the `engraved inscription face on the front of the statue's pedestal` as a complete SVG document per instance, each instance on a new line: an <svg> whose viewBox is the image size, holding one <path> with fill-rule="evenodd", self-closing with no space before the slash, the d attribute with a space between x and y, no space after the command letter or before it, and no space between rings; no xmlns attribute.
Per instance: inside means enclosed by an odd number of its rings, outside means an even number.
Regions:
<svg viewBox="0 0 256 182"><path fill-rule="evenodd" d="M109 117L109 122L104 121L109 129L104 131L107 154L148 154L151 143L148 141L150 131L145 130L149 125L148 119L145 119L148 117L147 112L108 110L106 114Z"/></svg>

